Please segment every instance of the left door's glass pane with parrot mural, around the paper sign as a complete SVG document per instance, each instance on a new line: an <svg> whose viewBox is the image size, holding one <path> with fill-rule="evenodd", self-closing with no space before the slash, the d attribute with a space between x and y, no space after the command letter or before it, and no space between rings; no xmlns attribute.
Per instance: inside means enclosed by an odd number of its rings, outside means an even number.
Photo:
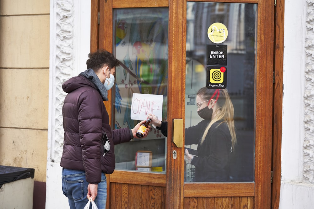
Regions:
<svg viewBox="0 0 314 209"><path fill-rule="evenodd" d="M168 8L127 8L113 10L116 68L115 128L133 128L140 120L131 117L133 94L162 95L162 117L167 118ZM148 100L147 100L148 101ZM146 113L154 113L149 103L141 103ZM154 113L155 114L155 113ZM147 114L146 114L147 115ZM150 151L151 164L138 167L136 153ZM143 152L144 153L144 152ZM146 153L147 154L147 153ZM152 130L144 139L132 139L115 146L116 169L165 173L166 138Z"/></svg>

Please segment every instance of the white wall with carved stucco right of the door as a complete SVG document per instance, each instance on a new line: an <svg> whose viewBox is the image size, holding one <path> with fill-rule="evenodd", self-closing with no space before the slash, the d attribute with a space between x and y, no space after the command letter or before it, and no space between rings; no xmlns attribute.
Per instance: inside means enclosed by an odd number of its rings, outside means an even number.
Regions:
<svg viewBox="0 0 314 209"><path fill-rule="evenodd" d="M284 1L284 114L279 209L314 208L313 3L313 0Z"/></svg>

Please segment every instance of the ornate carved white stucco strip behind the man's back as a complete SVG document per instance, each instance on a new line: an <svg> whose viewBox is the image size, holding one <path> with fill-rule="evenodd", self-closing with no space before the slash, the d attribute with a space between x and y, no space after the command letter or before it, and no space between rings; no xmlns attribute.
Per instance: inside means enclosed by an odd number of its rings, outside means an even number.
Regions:
<svg viewBox="0 0 314 209"><path fill-rule="evenodd" d="M52 1L53 26L50 54L50 84L51 84L51 122L50 129L50 161L60 163L63 147L62 105L66 93L62 84L73 75L73 33L74 7L73 0ZM48 159L49 160L49 159Z"/></svg>

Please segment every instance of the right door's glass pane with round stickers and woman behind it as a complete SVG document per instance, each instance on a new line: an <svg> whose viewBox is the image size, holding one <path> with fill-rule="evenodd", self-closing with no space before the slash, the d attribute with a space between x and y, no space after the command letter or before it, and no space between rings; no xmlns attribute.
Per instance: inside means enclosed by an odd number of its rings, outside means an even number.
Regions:
<svg viewBox="0 0 314 209"><path fill-rule="evenodd" d="M254 181L256 27L256 4L187 2L185 182Z"/></svg>

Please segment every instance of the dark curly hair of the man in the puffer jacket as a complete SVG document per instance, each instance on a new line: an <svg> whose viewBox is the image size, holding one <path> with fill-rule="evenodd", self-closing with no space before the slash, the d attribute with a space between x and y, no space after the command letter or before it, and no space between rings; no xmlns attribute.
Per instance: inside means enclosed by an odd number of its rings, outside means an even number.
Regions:
<svg viewBox="0 0 314 209"><path fill-rule="evenodd" d="M86 61L87 69L93 69L96 73L105 65L109 67L109 70L120 65L120 61L106 50L91 52L88 57L89 59Z"/></svg>

